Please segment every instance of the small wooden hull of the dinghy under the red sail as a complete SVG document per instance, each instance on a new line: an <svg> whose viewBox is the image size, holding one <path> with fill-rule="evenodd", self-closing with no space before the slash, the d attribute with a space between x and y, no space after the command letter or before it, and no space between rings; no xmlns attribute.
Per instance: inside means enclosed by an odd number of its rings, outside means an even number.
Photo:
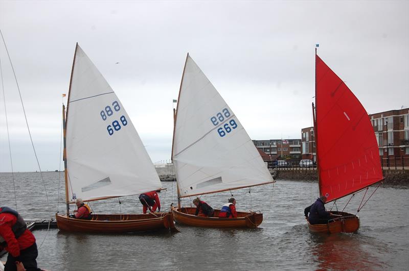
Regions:
<svg viewBox="0 0 409 271"><path fill-rule="evenodd" d="M311 232L318 233L340 233L356 232L359 229L359 217L354 214L345 212L331 211L333 214L342 215L341 217L334 218L330 220L328 224L310 224L308 222L308 227Z"/></svg>

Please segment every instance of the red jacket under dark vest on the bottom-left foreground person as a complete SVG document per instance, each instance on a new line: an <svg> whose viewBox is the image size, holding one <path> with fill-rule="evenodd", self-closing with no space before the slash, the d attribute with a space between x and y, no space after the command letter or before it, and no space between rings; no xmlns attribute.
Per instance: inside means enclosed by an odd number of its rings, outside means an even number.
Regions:
<svg viewBox="0 0 409 271"><path fill-rule="evenodd" d="M6 250L13 257L20 256L20 250L27 249L35 243L35 237L29 229L15 238L11 227L17 222L17 217L11 213L0 213L0 236L7 242ZM0 246L0 248L2 248Z"/></svg>

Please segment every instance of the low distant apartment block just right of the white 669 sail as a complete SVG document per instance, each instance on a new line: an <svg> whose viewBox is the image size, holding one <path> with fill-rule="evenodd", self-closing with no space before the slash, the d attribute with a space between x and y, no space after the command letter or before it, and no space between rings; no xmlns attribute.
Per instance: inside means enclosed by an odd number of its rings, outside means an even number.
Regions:
<svg viewBox="0 0 409 271"><path fill-rule="evenodd" d="M253 140L257 149L276 159L298 159L301 160L301 139L269 139Z"/></svg>

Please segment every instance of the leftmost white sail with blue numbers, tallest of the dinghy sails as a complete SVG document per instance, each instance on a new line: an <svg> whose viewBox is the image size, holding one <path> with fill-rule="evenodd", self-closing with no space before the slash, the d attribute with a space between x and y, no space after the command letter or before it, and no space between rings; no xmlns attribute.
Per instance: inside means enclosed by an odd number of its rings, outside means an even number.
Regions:
<svg viewBox="0 0 409 271"><path fill-rule="evenodd" d="M67 106L69 200L93 200L162 187L117 95L77 45Z"/></svg>

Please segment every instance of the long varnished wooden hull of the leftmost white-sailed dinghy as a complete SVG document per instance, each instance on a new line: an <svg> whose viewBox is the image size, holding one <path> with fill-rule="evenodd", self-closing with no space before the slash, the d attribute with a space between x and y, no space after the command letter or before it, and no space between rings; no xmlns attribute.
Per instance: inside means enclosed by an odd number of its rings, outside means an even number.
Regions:
<svg viewBox="0 0 409 271"><path fill-rule="evenodd" d="M93 214L91 220L56 214L58 229L67 232L123 233L161 229L177 231L172 212L155 214Z"/></svg>

